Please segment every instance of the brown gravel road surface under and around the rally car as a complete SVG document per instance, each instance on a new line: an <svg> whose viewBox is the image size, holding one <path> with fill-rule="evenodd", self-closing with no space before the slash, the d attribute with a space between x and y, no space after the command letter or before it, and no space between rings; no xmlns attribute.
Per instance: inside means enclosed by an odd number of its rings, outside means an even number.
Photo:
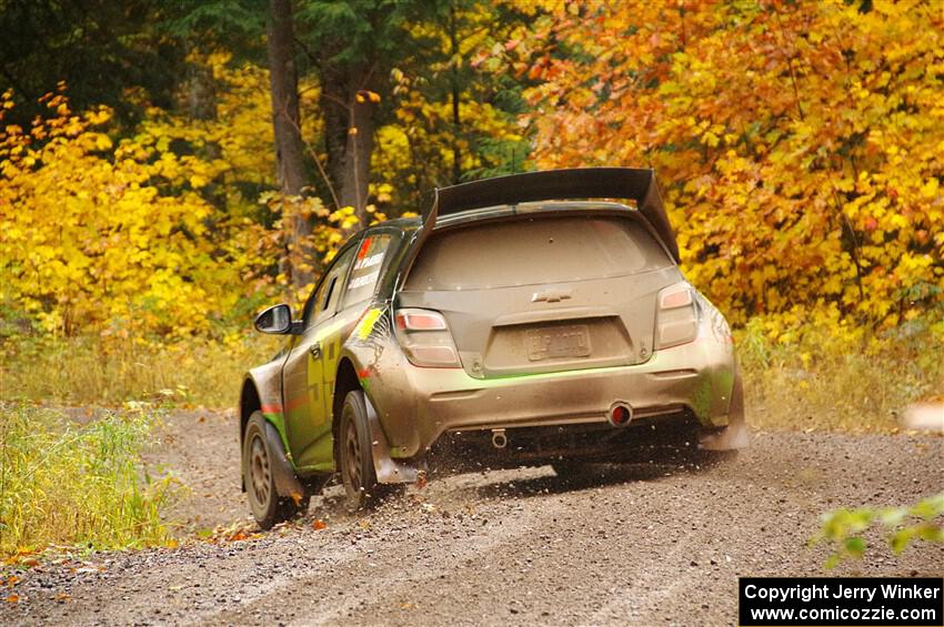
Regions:
<svg viewBox="0 0 944 627"><path fill-rule="evenodd" d="M180 413L162 433L149 462L190 486L181 536L245 519L232 419ZM363 516L335 486L258 537L33 568L0 624L731 625L739 576L823 574L820 513L942 487L940 436L802 433L754 433L710 467L455 475ZM944 549L874 546L834 573L942 576Z"/></svg>

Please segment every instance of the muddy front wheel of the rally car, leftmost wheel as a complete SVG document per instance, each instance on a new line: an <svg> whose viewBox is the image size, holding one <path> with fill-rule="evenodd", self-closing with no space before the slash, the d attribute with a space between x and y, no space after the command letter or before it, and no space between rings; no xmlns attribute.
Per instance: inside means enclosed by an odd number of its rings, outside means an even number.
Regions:
<svg viewBox="0 0 944 627"><path fill-rule="evenodd" d="M265 417L262 412L253 412L242 438L242 468L249 508L263 529L271 529L299 512L305 512L310 499L308 494L303 495L299 503L279 496L272 468L273 455L278 454L281 452L271 451L265 438Z"/></svg>

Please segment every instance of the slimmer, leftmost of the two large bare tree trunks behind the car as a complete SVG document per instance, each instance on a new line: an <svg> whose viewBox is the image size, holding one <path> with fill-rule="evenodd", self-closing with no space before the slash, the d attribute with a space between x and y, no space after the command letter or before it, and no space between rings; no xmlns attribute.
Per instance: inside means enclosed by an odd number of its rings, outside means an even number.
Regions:
<svg viewBox="0 0 944 627"><path fill-rule="evenodd" d="M305 171L301 121L299 117L299 79L295 71L291 0L269 0L269 78L272 94L272 127L275 134L275 163L282 190L283 219L290 219L288 274L297 287L314 279L312 251L308 240L311 222L299 213L294 199L301 195Z"/></svg>

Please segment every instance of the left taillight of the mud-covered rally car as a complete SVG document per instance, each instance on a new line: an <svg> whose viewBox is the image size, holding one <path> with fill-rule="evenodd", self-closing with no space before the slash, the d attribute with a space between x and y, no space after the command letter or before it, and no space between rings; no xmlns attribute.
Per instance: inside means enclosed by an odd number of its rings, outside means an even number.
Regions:
<svg viewBox="0 0 944 627"><path fill-rule="evenodd" d="M431 368L462 367L449 325L441 313L399 310L393 320L396 338L411 364Z"/></svg>

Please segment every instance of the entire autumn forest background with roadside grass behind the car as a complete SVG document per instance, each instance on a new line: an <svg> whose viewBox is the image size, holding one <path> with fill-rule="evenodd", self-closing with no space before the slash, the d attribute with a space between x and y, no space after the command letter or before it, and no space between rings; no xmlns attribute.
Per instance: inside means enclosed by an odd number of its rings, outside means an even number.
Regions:
<svg viewBox="0 0 944 627"><path fill-rule="evenodd" d="M230 406L356 229L581 165L656 170L755 427L944 392L935 1L0 7L0 397Z"/></svg>

